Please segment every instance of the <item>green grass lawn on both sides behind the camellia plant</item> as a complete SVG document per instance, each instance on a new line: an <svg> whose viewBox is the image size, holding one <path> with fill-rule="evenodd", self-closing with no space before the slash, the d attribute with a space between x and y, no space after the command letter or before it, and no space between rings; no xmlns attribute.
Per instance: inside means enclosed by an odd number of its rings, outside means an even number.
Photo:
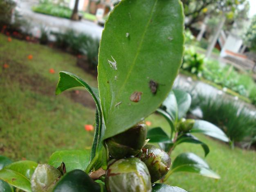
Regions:
<svg viewBox="0 0 256 192"><path fill-rule="evenodd" d="M32 60L28 60L29 54L33 55ZM9 68L3 69L4 63ZM61 70L77 74L97 86L95 77L76 67L74 56L25 41L8 42L6 36L0 35L0 65L0 154L13 160L25 158L43 163L56 150L91 146L93 133L86 132L83 126L94 123L94 109L77 103L71 96L72 90L54 95L57 72ZM50 68L56 73L49 73ZM170 132L164 118L152 114L147 120L152 122L151 127L161 126ZM256 190L254 151L231 150L228 145L209 137L197 136L209 145L206 161L221 179L215 181L196 174L175 173L168 184L190 192ZM198 145L181 144L172 159L181 152L204 155Z"/></svg>

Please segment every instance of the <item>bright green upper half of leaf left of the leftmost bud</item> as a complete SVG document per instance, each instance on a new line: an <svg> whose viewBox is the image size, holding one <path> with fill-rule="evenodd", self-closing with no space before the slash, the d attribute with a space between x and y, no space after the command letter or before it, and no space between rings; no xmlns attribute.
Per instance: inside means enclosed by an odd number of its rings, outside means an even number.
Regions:
<svg viewBox="0 0 256 192"><path fill-rule="evenodd" d="M38 163L34 161L16 161L14 163L11 163L10 165L7 165L5 168L18 172L30 180L37 165Z"/></svg>

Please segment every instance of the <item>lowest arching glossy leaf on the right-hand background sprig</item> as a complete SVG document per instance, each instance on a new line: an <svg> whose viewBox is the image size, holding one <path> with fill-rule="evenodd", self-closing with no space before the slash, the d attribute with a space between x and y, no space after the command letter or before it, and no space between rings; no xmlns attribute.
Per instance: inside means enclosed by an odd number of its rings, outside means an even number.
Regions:
<svg viewBox="0 0 256 192"><path fill-rule="evenodd" d="M220 179L220 176L213 172L203 159L193 153L179 154L173 161L173 166L166 174L165 180L175 172L192 172L213 179Z"/></svg>

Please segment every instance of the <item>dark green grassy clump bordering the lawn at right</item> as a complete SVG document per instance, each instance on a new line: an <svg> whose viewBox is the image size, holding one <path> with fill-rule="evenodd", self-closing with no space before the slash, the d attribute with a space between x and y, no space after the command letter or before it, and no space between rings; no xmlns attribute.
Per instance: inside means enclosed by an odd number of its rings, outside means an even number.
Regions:
<svg viewBox="0 0 256 192"><path fill-rule="evenodd" d="M193 107L199 106L203 119L220 127L233 143L253 139L256 118L243 104L221 96L192 94Z"/></svg>

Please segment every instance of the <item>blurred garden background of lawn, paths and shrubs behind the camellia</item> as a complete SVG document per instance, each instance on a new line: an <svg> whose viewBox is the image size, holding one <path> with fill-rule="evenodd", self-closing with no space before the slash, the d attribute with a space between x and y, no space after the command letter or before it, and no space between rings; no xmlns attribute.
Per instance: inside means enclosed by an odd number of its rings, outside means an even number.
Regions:
<svg viewBox="0 0 256 192"><path fill-rule="evenodd" d="M188 117L220 127L229 145L209 144L207 161L219 181L175 174L188 191L256 190L256 1L182 0L185 51L174 87L189 92ZM98 49L118 0L0 0L0 154L47 162L52 152L90 148L95 105L82 88L55 96L59 71L97 87ZM157 41L157 39L156 39ZM158 114L149 128L168 123ZM192 144L180 152L203 151ZM172 157L172 158L173 158Z"/></svg>

